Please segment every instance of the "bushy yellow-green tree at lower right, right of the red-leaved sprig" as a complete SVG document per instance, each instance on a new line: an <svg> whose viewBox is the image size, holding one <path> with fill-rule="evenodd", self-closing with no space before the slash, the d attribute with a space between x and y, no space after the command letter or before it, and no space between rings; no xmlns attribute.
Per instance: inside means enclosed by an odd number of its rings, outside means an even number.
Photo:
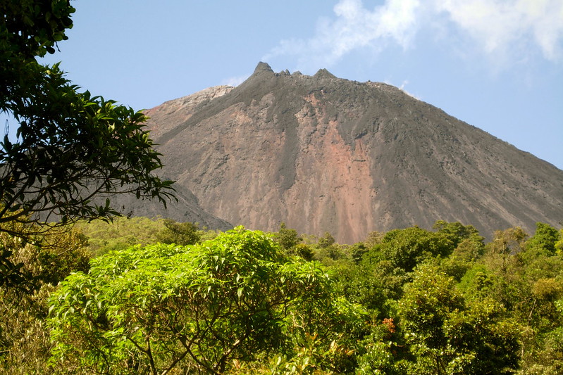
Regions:
<svg viewBox="0 0 563 375"><path fill-rule="evenodd" d="M409 374L512 374L518 367L521 326L492 298L464 300L438 268L418 267L399 307L415 357Z"/></svg>

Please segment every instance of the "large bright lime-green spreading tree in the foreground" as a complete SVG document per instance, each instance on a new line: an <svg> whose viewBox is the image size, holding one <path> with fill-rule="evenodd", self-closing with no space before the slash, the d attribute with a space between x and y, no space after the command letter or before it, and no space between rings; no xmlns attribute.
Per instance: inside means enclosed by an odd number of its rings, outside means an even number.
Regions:
<svg viewBox="0 0 563 375"><path fill-rule="evenodd" d="M329 286L316 263L286 259L268 236L242 227L196 246L107 253L54 293L55 359L95 374L222 374L233 360L290 352L327 331Z"/></svg>

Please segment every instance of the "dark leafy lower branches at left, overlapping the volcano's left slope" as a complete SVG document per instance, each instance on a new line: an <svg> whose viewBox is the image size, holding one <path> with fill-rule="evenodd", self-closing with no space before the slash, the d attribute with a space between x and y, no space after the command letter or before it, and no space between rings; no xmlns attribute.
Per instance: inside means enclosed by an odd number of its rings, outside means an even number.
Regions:
<svg viewBox="0 0 563 375"><path fill-rule="evenodd" d="M18 141L0 143L0 222L109 218L119 214L115 193L166 205L172 182L154 174L162 164L143 129L147 117L78 93L57 65L32 68L30 87L0 103L20 124Z"/></svg>

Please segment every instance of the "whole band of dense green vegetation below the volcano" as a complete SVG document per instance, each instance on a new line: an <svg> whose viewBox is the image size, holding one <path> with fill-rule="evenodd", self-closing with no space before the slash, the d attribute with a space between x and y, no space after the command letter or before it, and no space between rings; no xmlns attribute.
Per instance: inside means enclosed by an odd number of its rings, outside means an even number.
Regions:
<svg viewBox="0 0 563 375"><path fill-rule="evenodd" d="M562 233L485 243L437 222L348 246L147 218L4 232L30 282L0 289L0 372L561 374Z"/></svg>

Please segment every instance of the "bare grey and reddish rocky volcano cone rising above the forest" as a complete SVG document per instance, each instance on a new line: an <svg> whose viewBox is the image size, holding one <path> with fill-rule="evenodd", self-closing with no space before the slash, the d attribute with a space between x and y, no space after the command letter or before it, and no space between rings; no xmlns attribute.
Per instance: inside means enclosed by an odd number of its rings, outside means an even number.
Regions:
<svg viewBox="0 0 563 375"><path fill-rule="evenodd" d="M147 114L163 174L230 224L353 243L436 220L485 236L563 220L562 170L387 84L260 63Z"/></svg>

